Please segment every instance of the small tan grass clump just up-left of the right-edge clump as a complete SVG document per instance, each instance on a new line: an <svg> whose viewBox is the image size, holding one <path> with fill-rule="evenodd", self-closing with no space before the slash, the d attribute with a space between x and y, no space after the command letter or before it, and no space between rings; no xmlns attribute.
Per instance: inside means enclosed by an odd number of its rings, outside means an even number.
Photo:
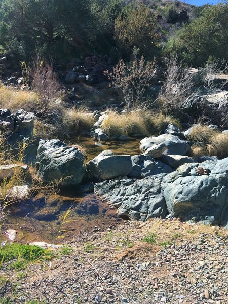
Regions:
<svg viewBox="0 0 228 304"><path fill-rule="evenodd" d="M192 131L189 134L188 139L207 143L210 141L211 137L216 134L217 132L213 129L208 128L208 126L197 124L192 128Z"/></svg>

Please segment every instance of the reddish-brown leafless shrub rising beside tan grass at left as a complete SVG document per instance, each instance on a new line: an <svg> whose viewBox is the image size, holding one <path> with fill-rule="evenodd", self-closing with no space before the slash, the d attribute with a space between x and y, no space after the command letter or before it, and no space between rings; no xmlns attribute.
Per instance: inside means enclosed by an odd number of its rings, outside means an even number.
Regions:
<svg viewBox="0 0 228 304"><path fill-rule="evenodd" d="M60 89L56 73L53 71L53 61L50 60L48 63L37 54L33 58L32 78L32 88L37 93L41 110L47 110Z"/></svg>

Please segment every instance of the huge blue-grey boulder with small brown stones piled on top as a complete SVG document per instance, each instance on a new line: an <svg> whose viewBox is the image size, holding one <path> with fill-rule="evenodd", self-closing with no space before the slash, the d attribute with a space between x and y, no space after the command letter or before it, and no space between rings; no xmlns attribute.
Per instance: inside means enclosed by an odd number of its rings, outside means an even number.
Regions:
<svg viewBox="0 0 228 304"><path fill-rule="evenodd" d="M228 158L205 161L209 175L198 175L199 163L180 166L161 187L172 216L220 224L228 210Z"/></svg>

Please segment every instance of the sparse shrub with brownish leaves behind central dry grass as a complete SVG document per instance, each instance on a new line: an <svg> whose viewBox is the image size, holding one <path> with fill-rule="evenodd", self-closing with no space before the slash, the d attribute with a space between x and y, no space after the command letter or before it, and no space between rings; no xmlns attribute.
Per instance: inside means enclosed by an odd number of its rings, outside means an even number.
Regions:
<svg viewBox="0 0 228 304"><path fill-rule="evenodd" d="M140 60L135 58L129 64L120 59L111 73L105 73L112 81L112 85L121 90L126 107L130 110L139 105L142 107L150 101L150 96L146 97L144 93L156 70L156 62L146 63L142 56Z"/></svg>

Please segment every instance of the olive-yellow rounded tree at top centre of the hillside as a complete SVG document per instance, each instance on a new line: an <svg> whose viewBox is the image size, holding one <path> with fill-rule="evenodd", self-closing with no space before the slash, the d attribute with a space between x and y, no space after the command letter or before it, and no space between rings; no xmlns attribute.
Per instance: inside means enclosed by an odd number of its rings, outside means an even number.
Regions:
<svg viewBox="0 0 228 304"><path fill-rule="evenodd" d="M115 39L125 57L134 46L154 57L159 42L156 17L142 3L127 5L115 21Z"/></svg>

